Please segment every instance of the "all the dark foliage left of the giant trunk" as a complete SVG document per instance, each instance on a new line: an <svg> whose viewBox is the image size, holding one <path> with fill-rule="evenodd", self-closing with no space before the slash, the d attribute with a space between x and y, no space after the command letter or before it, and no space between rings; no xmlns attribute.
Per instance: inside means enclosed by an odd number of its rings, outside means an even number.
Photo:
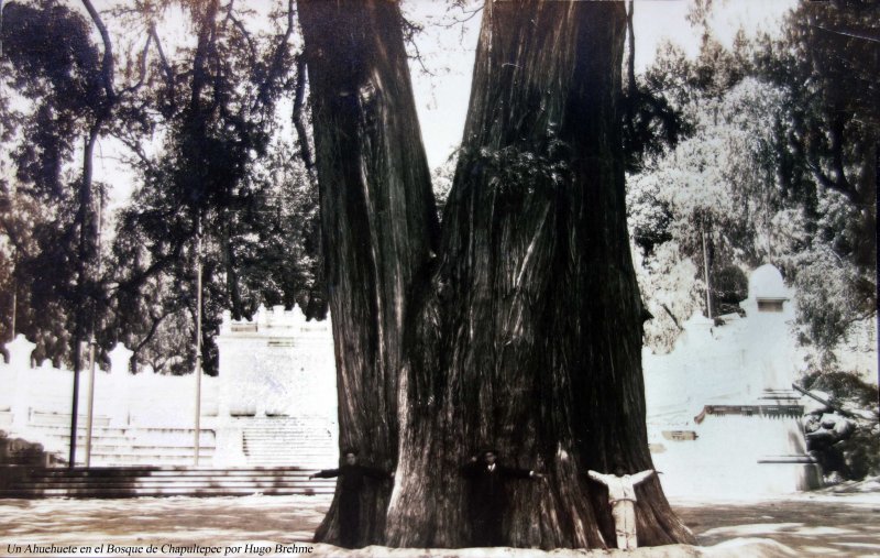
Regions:
<svg viewBox="0 0 880 558"><path fill-rule="evenodd" d="M326 315L317 192L298 162L310 164L310 139L298 125L307 109L293 8L139 3L105 12L109 33L101 15L89 22L59 2L3 6L0 139L14 149L0 164L14 174L0 178L0 225L9 239L2 256L15 265L14 276L0 281L7 308L8 293L16 293L16 330L37 341L40 358L69 361L85 296L95 318L80 324L95 325L103 349L123 341L141 365L191 371L199 228L209 371L226 308L241 318L260 304L299 303L310 317ZM272 25L255 25L261 19ZM168 42L157 30L173 21L190 28L194 40ZM105 40L103 62L92 24ZM179 44L167 48L172 43ZM124 90L108 84L109 54L131 84ZM292 101L293 118L285 118ZM292 123L298 142L288 139ZM130 150L123 163L136 178L101 265L95 238L86 252L78 238L96 209L84 212L88 198L74 195L84 184L102 188L82 182L87 163L82 174L75 167L81 139L95 133ZM86 274L78 269L84 256Z"/></svg>

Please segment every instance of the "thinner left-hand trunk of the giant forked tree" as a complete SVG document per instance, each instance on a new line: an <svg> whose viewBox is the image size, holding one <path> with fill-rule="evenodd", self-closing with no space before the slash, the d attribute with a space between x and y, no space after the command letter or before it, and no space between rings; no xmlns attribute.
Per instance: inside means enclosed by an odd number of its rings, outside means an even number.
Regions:
<svg viewBox="0 0 880 558"><path fill-rule="evenodd" d="M299 0L336 341L340 448L393 471L406 300L436 250L437 214L396 3ZM391 483L362 495L382 540ZM316 540L339 541L339 492Z"/></svg>

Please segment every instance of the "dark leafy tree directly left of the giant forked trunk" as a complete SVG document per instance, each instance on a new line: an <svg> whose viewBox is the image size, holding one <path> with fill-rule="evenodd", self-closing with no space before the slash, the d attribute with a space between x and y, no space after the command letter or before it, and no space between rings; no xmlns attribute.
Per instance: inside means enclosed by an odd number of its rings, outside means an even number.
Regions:
<svg viewBox="0 0 880 558"><path fill-rule="evenodd" d="M175 7L144 6L118 17L162 45L157 23ZM180 336L179 328L195 331L201 230L202 362L216 373L213 336L223 309L241 319L261 304L299 303L309 317L324 316L317 199L308 171L290 156L294 145L285 134L292 123L279 113L284 99L305 84L295 72L293 2L268 14L234 2L178 8L189 15L195 42L160 51L146 99L150 129L163 141L156 150L150 136L123 132L142 186L118 232L117 259L136 265L117 270L117 327L139 357L158 358L174 373L191 369L193 335ZM277 25L260 30L256 21L266 15ZM300 146L306 153L308 138ZM166 288L175 283L186 287ZM153 299L142 315L147 319L127 309L139 299ZM176 339L165 333L175 330ZM168 361L172 354L185 358Z"/></svg>

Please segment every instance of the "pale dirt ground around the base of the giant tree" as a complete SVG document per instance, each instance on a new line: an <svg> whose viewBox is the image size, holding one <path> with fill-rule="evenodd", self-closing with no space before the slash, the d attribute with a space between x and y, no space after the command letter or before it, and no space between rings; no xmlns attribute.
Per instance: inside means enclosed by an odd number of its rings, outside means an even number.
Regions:
<svg viewBox="0 0 880 558"><path fill-rule="evenodd" d="M302 555L308 554L311 534L329 503L329 496L262 495L0 500L0 556ZM760 538L789 547L793 550L789 556L880 557L880 494L876 493L673 501L672 505L703 546ZM747 548L725 556L748 556ZM323 545L314 550L312 556L339 554ZM371 556L381 554L377 549ZM602 555L617 554L622 552ZM509 549L480 554L525 555Z"/></svg>

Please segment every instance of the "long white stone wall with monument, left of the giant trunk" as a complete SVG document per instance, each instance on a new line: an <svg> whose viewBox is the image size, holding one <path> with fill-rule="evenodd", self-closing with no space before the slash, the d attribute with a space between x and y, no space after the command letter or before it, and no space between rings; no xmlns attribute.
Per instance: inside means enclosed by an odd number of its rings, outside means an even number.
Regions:
<svg viewBox="0 0 880 558"><path fill-rule="evenodd" d="M299 308L260 308L253 321L227 314L218 337L220 374L204 376L200 467L327 467L338 456L336 366L329 320ZM0 430L41 444L59 460L70 440L70 371L32 366L19 336L0 360ZM191 466L196 382L128 373L131 351L110 351L95 375L91 466ZM88 371L80 372L77 464L85 464Z"/></svg>

